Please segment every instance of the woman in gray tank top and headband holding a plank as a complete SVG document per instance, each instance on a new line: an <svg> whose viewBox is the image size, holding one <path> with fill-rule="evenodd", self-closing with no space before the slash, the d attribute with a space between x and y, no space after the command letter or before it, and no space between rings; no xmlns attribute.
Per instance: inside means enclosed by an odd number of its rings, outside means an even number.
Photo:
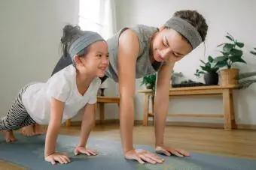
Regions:
<svg viewBox="0 0 256 170"><path fill-rule="evenodd" d="M157 153L189 156L186 151L166 146L163 141L166 115L169 108L169 81L175 62L180 61L206 39L208 25L195 10L180 10L161 28L137 25L122 28L108 42L109 67L106 76L119 84L120 133L126 159L139 163L162 163L148 151L133 148L134 104L136 79L157 73L154 107L155 151ZM60 58L53 73L71 64Z"/></svg>

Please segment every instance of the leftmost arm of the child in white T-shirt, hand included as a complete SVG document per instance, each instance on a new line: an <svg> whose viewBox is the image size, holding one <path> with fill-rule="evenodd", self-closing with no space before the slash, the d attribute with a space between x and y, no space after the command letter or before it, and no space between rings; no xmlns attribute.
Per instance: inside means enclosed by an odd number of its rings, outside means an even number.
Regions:
<svg viewBox="0 0 256 170"><path fill-rule="evenodd" d="M64 103L52 98L50 100L50 122L47 127L44 157L45 160L55 164L55 161L59 163L70 162L69 158L64 154L56 154L56 139L59 133L59 127L62 124L62 115L64 110Z"/></svg>

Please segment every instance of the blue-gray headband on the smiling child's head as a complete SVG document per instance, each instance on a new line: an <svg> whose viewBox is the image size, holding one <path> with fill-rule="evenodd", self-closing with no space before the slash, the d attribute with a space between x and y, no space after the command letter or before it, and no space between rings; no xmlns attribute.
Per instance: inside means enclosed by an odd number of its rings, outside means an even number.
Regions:
<svg viewBox="0 0 256 170"><path fill-rule="evenodd" d="M82 49L90 46L90 44L95 43L97 41L105 41L99 34L93 31L85 31L82 37L79 37L78 40L75 40L72 43L72 46L69 48L69 55L73 58L78 54Z"/></svg>

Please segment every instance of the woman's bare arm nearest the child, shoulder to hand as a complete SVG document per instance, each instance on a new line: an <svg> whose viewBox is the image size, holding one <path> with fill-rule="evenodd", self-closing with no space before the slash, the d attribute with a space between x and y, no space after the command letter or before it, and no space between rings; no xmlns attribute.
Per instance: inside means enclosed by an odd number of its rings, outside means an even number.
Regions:
<svg viewBox="0 0 256 170"><path fill-rule="evenodd" d="M133 148L134 96L136 93L136 59L139 55L139 40L131 30L120 35L118 48L118 79L120 92L120 133L126 159L139 163L161 163L163 160L148 151Z"/></svg>

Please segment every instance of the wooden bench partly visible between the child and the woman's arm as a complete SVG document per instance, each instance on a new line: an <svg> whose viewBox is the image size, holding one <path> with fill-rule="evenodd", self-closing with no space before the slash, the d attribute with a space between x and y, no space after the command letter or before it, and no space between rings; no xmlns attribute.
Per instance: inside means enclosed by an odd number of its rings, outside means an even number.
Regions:
<svg viewBox="0 0 256 170"><path fill-rule="evenodd" d="M97 104L99 105L99 121L100 124L105 120L105 104L106 103L117 103L119 106L119 97L108 97L108 96L98 96ZM66 121L66 127L71 126L71 119Z"/></svg>

